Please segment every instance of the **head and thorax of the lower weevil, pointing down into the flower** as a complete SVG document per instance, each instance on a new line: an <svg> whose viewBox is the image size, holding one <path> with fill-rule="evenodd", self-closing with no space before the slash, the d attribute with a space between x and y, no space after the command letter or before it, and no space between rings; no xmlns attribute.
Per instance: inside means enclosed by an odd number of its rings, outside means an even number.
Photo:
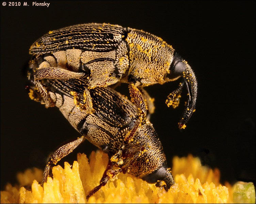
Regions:
<svg viewBox="0 0 256 204"><path fill-rule="evenodd" d="M139 154L138 159L132 162L128 169L129 174L148 183L156 183L158 187L164 186L166 191L169 190L174 184L174 179L170 168L167 167L162 144L153 125L148 120L145 120L138 128L134 139L124 148L123 156L126 158L124 165L137 154Z"/></svg>

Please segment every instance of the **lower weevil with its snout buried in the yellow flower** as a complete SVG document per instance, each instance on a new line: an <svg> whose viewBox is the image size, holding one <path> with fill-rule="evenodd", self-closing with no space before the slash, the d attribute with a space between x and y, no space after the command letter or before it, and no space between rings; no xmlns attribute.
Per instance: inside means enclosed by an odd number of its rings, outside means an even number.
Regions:
<svg viewBox="0 0 256 204"><path fill-rule="evenodd" d="M32 82L29 87L30 98L45 104L45 98L35 86L33 73L29 74L29 78ZM88 113L76 105L86 105L86 100L82 98L87 81L44 79L40 83L53 105L82 135L53 152L45 167L42 184L47 181L50 167L86 139L109 155L100 184L88 193L87 199L109 180L113 181L120 172L156 183L156 186L164 187L166 191L174 184L162 144L146 117L147 105L136 86L129 85L133 103L110 87L89 89L94 112ZM113 169L114 166L118 168Z"/></svg>

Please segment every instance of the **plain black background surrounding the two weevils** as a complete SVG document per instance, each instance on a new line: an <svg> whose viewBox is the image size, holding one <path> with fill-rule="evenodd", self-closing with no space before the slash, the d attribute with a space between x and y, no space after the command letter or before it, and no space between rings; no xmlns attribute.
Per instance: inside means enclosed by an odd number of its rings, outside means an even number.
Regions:
<svg viewBox="0 0 256 204"><path fill-rule="evenodd" d="M44 1L36 1L44 2ZM180 131L186 91L178 108L165 99L179 81L146 88L155 98L151 117L169 166L175 155L199 156L219 168L221 181L255 184L255 1L45 1L46 6L3 6L1 1L1 190L29 167L44 168L48 154L79 136L57 108L29 99L24 68L30 45L79 23L143 29L171 44L198 80L196 111ZM127 85L124 86L127 91ZM127 93L127 92L124 92ZM63 159L96 147L84 142ZM63 162L60 162L63 164Z"/></svg>

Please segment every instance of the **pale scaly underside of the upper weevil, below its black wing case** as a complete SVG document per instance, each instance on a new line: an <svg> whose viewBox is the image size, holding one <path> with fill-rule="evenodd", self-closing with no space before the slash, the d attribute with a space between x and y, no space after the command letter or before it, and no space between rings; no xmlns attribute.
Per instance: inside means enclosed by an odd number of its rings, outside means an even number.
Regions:
<svg viewBox="0 0 256 204"><path fill-rule="evenodd" d="M42 57L37 60L37 57L36 60L40 62L37 62L37 70L44 68L49 70L51 67L67 69L76 73L84 73L84 78L89 79L86 84L88 88L108 86L118 82L128 72L129 60L127 52L128 49L124 41L119 42L116 49L109 52L67 49L45 54L43 60L41 59ZM37 72L37 76L39 72ZM45 76L45 78L47 77ZM69 77L75 78L74 75Z"/></svg>

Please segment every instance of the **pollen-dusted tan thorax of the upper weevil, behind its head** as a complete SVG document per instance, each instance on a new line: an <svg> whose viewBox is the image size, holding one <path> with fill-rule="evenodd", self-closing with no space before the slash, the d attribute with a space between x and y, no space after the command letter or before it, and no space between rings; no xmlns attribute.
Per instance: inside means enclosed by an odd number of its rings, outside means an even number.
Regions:
<svg viewBox="0 0 256 204"><path fill-rule="evenodd" d="M127 80L136 86L165 83L175 50L161 38L128 28L130 70Z"/></svg>

